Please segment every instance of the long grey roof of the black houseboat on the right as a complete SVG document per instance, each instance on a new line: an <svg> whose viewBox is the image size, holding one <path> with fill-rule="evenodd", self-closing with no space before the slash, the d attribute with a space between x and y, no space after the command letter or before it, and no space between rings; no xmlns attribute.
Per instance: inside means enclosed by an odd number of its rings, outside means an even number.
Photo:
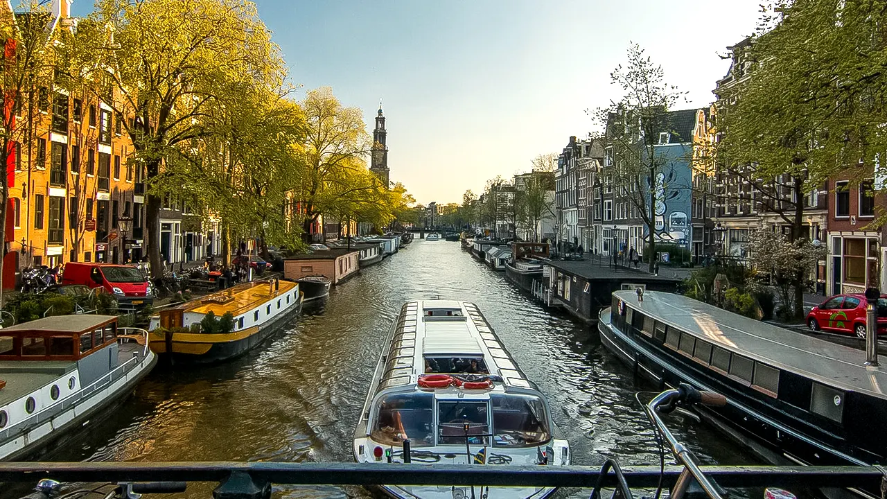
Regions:
<svg viewBox="0 0 887 499"><path fill-rule="evenodd" d="M657 321L775 368L844 390L887 396L887 370L865 366L865 352L849 346L777 328L681 295L648 291L640 303L634 291L613 295Z"/></svg>

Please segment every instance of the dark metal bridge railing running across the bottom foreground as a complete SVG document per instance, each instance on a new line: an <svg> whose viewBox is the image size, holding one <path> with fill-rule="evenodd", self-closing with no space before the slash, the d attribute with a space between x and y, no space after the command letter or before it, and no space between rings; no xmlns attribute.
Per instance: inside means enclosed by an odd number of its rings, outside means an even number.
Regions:
<svg viewBox="0 0 887 499"><path fill-rule="evenodd" d="M865 487L878 489L883 470L861 466L700 466L700 473L721 487ZM0 481L33 484L38 479L59 482L111 482L123 486L144 484L141 492L180 492L187 482L218 484L215 499L262 499L271 484L294 486L402 486L445 487L619 487L626 499L632 489L674 487L685 472L679 466L619 468L608 461L593 466L491 466L423 463L0 463ZM183 483L184 482L184 483ZM177 487L173 487L176 485ZM175 490L171 490L174 489ZM51 495L45 495L49 498ZM675 495L671 495L675 497Z"/></svg>

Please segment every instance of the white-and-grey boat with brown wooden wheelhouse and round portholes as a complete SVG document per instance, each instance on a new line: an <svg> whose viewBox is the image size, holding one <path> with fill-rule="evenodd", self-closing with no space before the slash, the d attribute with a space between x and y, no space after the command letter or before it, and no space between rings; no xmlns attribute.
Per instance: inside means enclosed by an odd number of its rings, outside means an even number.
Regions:
<svg viewBox="0 0 887 499"><path fill-rule="evenodd" d="M109 414L157 363L147 331L111 315L58 315L0 330L0 459L57 448Z"/></svg>

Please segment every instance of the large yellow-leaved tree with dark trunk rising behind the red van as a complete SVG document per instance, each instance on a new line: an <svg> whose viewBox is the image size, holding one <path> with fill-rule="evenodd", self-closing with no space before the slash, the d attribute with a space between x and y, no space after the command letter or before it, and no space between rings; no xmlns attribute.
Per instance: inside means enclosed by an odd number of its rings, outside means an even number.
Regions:
<svg viewBox="0 0 887 499"><path fill-rule="evenodd" d="M156 180L174 154L207 135L208 108L226 92L279 88L284 64L247 0L99 0L96 7L65 49L82 59L76 67L91 67L89 88L112 108L101 126L122 121L145 164L145 248L157 277L165 193Z"/></svg>

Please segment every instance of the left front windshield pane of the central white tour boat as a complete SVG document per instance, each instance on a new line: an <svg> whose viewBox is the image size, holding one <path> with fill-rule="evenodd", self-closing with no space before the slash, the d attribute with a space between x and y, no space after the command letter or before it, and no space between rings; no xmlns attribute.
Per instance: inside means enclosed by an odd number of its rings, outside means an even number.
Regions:
<svg viewBox="0 0 887 499"><path fill-rule="evenodd" d="M432 393L400 393L379 401L370 438L391 446L406 439L412 447L434 444L434 400Z"/></svg>

